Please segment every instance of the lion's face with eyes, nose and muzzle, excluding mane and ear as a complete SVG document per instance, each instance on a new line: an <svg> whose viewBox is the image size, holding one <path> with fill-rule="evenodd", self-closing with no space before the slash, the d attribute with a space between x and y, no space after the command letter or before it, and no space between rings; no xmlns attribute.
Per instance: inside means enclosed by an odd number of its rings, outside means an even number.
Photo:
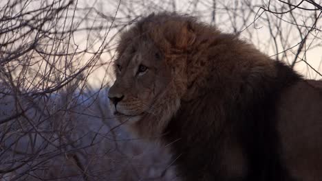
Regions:
<svg viewBox="0 0 322 181"><path fill-rule="evenodd" d="M111 110L120 121L157 114L155 101L167 96L171 73L162 52L147 38L131 40L114 62L116 81L109 90Z"/></svg>

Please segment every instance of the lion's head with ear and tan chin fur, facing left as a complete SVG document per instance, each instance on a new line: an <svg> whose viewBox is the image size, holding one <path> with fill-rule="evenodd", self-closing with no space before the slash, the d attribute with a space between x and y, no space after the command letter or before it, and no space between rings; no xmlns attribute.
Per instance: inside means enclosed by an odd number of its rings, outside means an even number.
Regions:
<svg viewBox="0 0 322 181"><path fill-rule="evenodd" d="M187 89L186 56L194 42L188 21L150 15L120 36L111 109L140 136L158 136Z"/></svg>

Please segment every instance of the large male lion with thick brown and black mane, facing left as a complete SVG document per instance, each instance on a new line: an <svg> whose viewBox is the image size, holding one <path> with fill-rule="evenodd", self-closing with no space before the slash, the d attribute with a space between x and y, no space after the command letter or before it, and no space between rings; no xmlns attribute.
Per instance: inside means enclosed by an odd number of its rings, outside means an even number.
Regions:
<svg viewBox="0 0 322 181"><path fill-rule="evenodd" d="M191 16L123 32L114 114L171 147L182 180L322 180L322 83Z"/></svg>

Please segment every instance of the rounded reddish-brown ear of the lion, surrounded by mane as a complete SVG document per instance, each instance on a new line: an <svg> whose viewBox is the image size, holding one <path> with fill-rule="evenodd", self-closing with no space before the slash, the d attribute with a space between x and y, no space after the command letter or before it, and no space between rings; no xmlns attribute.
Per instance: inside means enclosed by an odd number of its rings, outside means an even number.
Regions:
<svg viewBox="0 0 322 181"><path fill-rule="evenodd" d="M195 42L195 33L191 29L189 22L179 23L173 22L173 25L165 32L168 36L167 39L178 49L186 49L193 45Z"/></svg>

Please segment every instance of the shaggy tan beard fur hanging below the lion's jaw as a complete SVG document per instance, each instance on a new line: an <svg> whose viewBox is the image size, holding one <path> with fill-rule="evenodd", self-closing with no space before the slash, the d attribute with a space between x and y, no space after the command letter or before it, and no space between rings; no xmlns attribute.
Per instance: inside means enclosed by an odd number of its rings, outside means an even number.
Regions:
<svg viewBox="0 0 322 181"><path fill-rule="evenodd" d="M180 108L180 99L167 101L167 105L160 106L158 112L147 113L140 120L129 124L129 128L140 138L150 141L160 140L169 121ZM165 133L167 134L167 133Z"/></svg>

